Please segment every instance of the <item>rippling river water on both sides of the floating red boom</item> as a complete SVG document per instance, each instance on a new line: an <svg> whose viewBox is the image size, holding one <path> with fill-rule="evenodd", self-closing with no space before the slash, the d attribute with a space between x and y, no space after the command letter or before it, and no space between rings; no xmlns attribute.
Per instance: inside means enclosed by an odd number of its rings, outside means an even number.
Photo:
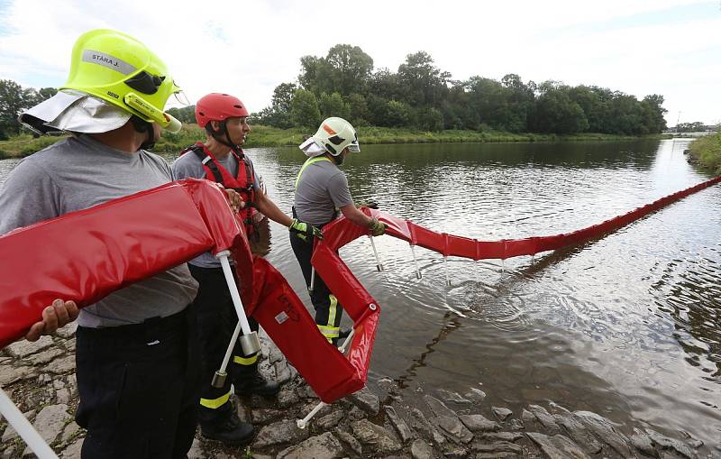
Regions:
<svg viewBox="0 0 721 459"><path fill-rule="evenodd" d="M482 240L568 233L708 179L688 140L363 146L343 165L356 199L438 232ZM305 157L247 151L282 209ZM167 158L172 161L172 157ZM2 183L17 161L0 161ZM443 258L377 238L342 258L382 309L370 385L484 390L483 404L554 401L631 427L721 447L721 187L605 237L506 262ZM285 228L268 255L309 305ZM347 320L347 318L346 318Z"/></svg>

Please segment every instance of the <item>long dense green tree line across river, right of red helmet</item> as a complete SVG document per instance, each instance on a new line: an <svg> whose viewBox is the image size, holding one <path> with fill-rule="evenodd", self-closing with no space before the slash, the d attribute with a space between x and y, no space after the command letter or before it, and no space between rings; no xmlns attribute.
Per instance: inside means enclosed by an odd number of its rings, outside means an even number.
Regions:
<svg viewBox="0 0 721 459"><path fill-rule="evenodd" d="M325 57L300 59L297 81L281 83L260 124L312 128L327 116L357 126L424 131L466 129L510 133L661 133L663 96L635 96L606 87L571 87L558 81L452 79L424 51L408 54L396 72L373 68L358 46L337 44Z"/></svg>

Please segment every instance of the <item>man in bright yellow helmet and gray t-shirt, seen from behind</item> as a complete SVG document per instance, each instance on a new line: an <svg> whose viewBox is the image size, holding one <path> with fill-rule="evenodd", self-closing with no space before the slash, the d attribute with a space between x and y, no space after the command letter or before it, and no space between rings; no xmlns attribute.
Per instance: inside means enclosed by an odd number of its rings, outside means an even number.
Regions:
<svg viewBox="0 0 721 459"><path fill-rule="evenodd" d="M164 111L178 91L163 61L140 41L111 30L81 35L67 83L21 116L40 133L72 135L11 173L0 190L0 234L171 181L169 165L146 149L161 129L178 130ZM189 306L195 295L196 281L183 264L79 315L72 301L58 299L32 326L27 338L36 340L78 317L83 458L187 456L199 398L196 315Z"/></svg>

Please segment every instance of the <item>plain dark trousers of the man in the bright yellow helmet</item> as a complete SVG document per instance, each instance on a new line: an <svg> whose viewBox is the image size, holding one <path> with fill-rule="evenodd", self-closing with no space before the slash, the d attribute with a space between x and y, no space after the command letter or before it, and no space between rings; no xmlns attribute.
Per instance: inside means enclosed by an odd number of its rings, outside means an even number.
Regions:
<svg viewBox="0 0 721 459"><path fill-rule="evenodd" d="M83 459L187 457L200 396L192 309L137 325L78 326Z"/></svg>

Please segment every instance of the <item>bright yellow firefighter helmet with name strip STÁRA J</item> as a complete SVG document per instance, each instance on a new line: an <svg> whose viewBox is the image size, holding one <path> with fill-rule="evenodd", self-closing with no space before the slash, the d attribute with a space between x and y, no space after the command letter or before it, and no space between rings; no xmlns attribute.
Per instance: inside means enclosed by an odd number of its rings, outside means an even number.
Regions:
<svg viewBox="0 0 721 459"><path fill-rule="evenodd" d="M125 33L97 29L80 35L68 81L60 87L66 88L101 98L171 133L180 130L180 122L164 111L180 88L165 63Z"/></svg>

